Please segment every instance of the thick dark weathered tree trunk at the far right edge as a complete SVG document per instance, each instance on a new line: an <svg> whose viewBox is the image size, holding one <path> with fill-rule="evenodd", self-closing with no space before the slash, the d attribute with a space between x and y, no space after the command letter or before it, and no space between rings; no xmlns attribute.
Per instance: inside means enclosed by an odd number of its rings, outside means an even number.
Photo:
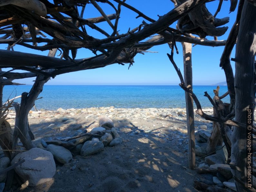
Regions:
<svg viewBox="0 0 256 192"><path fill-rule="evenodd" d="M246 108L255 108L254 62L256 40L256 6L244 2L235 55L235 120L246 124ZM252 115L253 117L253 115ZM246 129L234 127L231 149L231 167L237 191L245 191L246 183ZM238 181L240 180L240 182ZM241 182L242 181L242 182Z"/></svg>

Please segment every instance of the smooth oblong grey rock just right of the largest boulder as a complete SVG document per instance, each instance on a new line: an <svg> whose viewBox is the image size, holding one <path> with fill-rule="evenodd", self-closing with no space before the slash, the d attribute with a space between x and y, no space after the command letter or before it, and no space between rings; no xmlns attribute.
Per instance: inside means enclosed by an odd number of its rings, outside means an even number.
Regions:
<svg viewBox="0 0 256 192"><path fill-rule="evenodd" d="M53 154L59 163L66 164L73 159L71 152L62 146L50 144L46 149Z"/></svg>

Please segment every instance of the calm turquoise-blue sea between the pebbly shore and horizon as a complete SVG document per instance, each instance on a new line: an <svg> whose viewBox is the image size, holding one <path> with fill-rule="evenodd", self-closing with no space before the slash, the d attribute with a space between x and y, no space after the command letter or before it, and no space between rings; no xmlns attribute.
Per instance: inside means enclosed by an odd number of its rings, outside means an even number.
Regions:
<svg viewBox="0 0 256 192"><path fill-rule="evenodd" d="M3 101L29 92L32 85L5 86ZM227 91L227 86L220 86L220 95ZM212 107L204 97L207 91L213 97L216 86L193 86L202 107ZM184 108L184 91L178 85L45 85L35 101L37 109L56 110L58 108ZM227 96L223 102L229 102ZM16 99L20 102L20 99Z"/></svg>

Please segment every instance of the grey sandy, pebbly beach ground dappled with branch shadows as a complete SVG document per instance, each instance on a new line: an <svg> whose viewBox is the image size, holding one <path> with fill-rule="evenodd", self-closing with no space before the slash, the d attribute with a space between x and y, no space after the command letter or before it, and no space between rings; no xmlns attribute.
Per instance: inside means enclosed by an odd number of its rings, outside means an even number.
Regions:
<svg viewBox="0 0 256 192"><path fill-rule="evenodd" d="M211 109L208 111L212 113ZM27 187L25 191L197 191L193 181L202 176L187 168L186 116L182 112L185 109L90 108L31 112L29 123L34 143L40 148L43 148L42 138L59 139L98 127L100 115L114 121L124 142L105 147L95 155L73 156L73 161L65 165L56 162L56 174L51 181ZM13 115L11 112L9 118ZM69 120L63 122L62 118ZM14 124L14 119L9 121ZM196 130L202 124L210 125L196 115Z"/></svg>

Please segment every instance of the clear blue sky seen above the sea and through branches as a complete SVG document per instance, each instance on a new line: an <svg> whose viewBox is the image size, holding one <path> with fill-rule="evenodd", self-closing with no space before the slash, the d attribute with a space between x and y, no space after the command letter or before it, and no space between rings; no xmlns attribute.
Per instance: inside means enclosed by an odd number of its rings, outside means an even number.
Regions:
<svg viewBox="0 0 256 192"><path fill-rule="evenodd" d="M112 0L110 0L113 2ZM127 0L127 4L137 8L147 16L157 20L157 15L163 15L174 8L173 3L170 0L161 0L156 3L153 0ZM219 1L213 1L207 3L207 8L214 14ZM109 5L98 3L102 6L106 14L115 13L113 8ZM114 5L117 5L113 2ZM236 12L229 14L230 1L223 1L221 12L217 15L217 18L230 17L230 22L224 26L228 26L229 29L218 40L227 39L231 27L235 21ZM100 13L94 8L93 5L86 5L84 12L84 18L92 18L101 16ZM137 14L133 13L125 7L121 7L121 15L119 19L118 30L119 33L126 33L129 29L137 27L144 20L143 18L136 19ZM114 23L114 20L112 21ZM147 22L149 23L149 22ZM103 27L108 33L112 33L112 29L106 22L97 24L99 27ZM173 28L176 28L176 22L172 24ZM88 34L96 38L105 38L97 31L86 27ZM49 35L45 34L48 38ZM209 40L213 40L213 37L207 37ZM43 45L39 43L38 45ZM174 60L178 67L181 68L183 73L183 61L182 61L182 47L181 43L177 42L179 54L174 53ZM0 44L0 49L6 49L6 44ZM219 67L220 58L223 51L222 47L207 47L196 45L192 47L192 69L193 69L193 84L194 85L212 85L218 82L225 81L224 71ZM47 55L48 51L36 51L28 49L19 45L15 45L15 51L22 51L26 53L34 53ZM71 72L67 74L58 75L54 79L51 79L47 85L178 85L179 78L175 72L172 64L170 63L166 53L170 53L170 48L167 44L159 45L151 48L149 51L158 53L145 53L137 54L134 58L135 63L128 70L128 65L124 66L119 64L113 64L104 68L91 69L79 72ZM234 51L231 57L234 57ZM59 53L57 52L56 55ZM92 53L86 49L80 49L77 52L76 59L86 58L93 56ZM231 62L234 70L234 62ZM33 78L27 78L23 80L15 80L14 82L33 84Z"/></svg>

